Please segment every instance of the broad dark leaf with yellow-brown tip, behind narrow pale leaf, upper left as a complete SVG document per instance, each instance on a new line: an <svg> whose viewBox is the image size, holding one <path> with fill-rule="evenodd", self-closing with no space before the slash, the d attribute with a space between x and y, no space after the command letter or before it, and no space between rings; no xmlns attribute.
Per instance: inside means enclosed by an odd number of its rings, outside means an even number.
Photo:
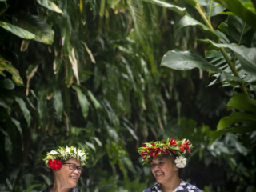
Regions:
<svg viewBox="0 0 256 192"><path fill-rule="evenodd" d="M54 30L52 30L42 18L39 18L36 15L26 13L17 14L14 17L14 23L17 26L22 27L22 29L35 34L35 41L49 45L54 42Z"/></svg>

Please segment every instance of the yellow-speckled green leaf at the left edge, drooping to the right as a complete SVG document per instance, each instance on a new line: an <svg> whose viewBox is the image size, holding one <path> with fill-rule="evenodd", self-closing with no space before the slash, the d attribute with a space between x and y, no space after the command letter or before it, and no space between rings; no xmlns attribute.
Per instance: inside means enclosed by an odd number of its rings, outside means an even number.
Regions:
<svg viewBox="0 0 256 192"><path fill-rule="evenodd" d="M5 74L2 73L4 70L12 74L12 79L17 86L23 85L23 81L22 78L19 76L18 70L16 70L14 66L10 64L10 62L8 62L5 58L2 58L2 56L0 55L0 74L5 76Z"/></svg>

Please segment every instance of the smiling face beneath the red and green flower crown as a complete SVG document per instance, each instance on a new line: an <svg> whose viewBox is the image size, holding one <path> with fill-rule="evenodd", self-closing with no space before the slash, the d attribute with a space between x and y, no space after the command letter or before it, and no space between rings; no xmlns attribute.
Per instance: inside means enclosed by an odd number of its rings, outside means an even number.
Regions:
<svg viewBox="0 0 256 192"><path fill-rule="evenodd" d="M173 163L170 156L154 158L151 162L151 171L157 182L162 185L168 184L172 178L178 177L178 167Z"/></svg>

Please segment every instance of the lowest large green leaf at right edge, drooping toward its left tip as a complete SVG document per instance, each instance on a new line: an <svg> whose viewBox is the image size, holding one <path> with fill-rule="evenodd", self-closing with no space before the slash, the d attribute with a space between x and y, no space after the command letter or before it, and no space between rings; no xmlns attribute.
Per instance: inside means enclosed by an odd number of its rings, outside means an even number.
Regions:
<svg viewBox="0 0 256 192"><path fill-rule="evenodd" d="M252 124L249 126L233 127L233 128L229 128L229 129L225 129L225 130L215 130L209 136L212 139L210 142L210 146L211 146L211 144L213 144L213 142L217 138L221 137L224 134L227 134L227 133L246 134L246 133L254 131L254 130L256 130L256 124Z"/></svg>

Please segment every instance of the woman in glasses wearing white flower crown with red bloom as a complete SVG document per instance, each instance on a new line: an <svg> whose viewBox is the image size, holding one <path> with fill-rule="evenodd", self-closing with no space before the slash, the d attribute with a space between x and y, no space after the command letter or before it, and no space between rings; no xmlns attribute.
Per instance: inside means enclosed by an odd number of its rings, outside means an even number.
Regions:
<svg viewBox="0 0 256 192"><path fill-rule="evenodd" d="M86 165L85 150L77 150L75 147L59 147L58 150L52 150L46 154L43 159L46 166L54 170L54 184L40 192L81 192L75 188L82 167Z"/></svg>

